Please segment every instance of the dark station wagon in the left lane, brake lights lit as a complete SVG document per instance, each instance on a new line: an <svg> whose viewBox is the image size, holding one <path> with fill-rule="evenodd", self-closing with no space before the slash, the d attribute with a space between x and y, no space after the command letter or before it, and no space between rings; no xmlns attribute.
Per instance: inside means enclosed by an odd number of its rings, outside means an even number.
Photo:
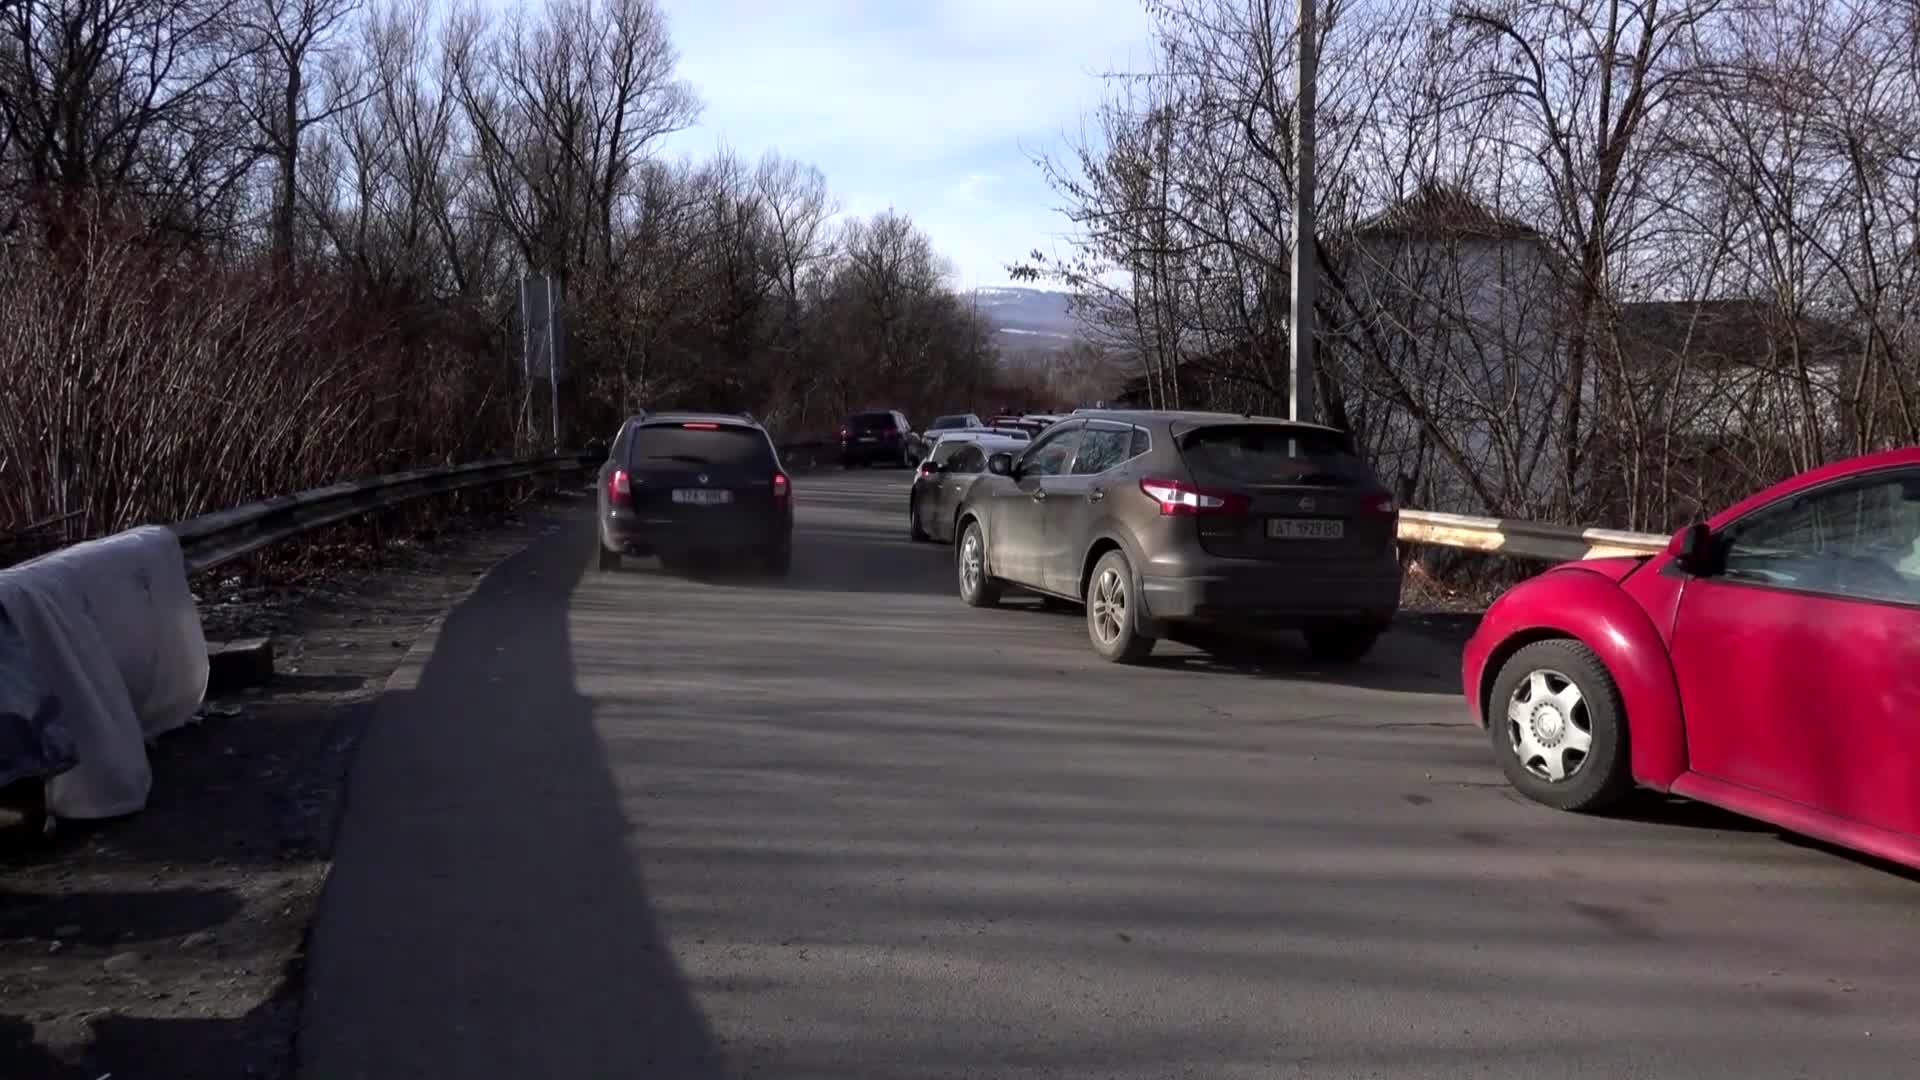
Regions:
<svg viewBox="0 0 1920 1080"><path fill-rule="evenodd" d="M651 413L620 427L599 473L599 569L624 555L793 563L793 479L741 415Z"/></svg>

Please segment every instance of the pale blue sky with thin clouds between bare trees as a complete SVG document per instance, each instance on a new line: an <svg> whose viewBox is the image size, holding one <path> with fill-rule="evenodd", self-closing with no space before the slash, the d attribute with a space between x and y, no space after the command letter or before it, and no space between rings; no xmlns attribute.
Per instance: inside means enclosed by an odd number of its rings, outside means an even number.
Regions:
<svg viewBox="0 0 1920 1080"><path fill-rule="evenodd" d="M668 154L780 150L818 165L841 209L893 208L952 259L958 288L1010 284L1066 252L1060 156L1102 71L1140 67L1139 0L660 0L680 75L705 102Z"/></svg>

